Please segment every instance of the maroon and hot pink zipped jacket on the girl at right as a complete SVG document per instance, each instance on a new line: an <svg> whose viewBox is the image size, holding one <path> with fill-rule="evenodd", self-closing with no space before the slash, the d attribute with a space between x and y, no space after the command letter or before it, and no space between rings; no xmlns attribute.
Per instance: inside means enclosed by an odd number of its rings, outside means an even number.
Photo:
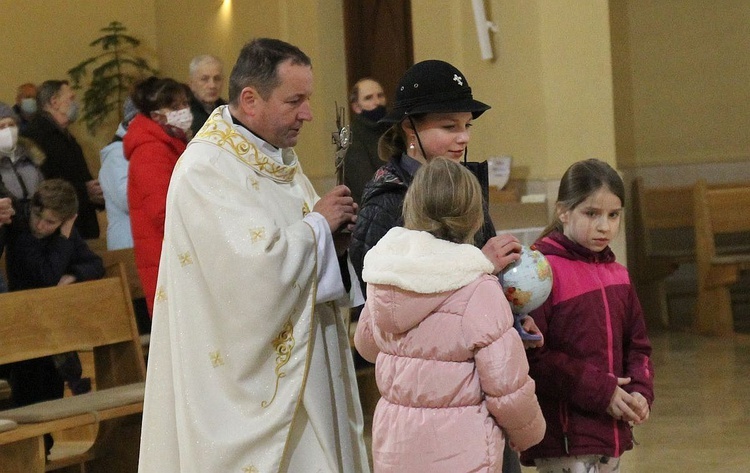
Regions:
<svg viewBox="0 0 750 473"><path fill-rule="evenodd" d="M607 414L617 378L622 388L654 400L651 343L627 269L609 247L594 253L552 232L534 244L552 267L552 293L531 312L544 346L528 350L531 377L547 421L538 445L521 454L619 457L633 448L629 424Z"/></svg>

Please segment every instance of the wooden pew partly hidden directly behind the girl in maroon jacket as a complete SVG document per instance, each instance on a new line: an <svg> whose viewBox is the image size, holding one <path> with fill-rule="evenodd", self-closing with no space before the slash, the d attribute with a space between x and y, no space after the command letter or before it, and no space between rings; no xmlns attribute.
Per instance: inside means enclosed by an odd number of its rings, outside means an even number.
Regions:
<svg viewBox="0 0 750 473"><path fill-rule="evenodd" d="M666 327L666 278L680 265L695 261L693 187L646 187L637 178L631 200L638 296L646 317Z"/></svg>

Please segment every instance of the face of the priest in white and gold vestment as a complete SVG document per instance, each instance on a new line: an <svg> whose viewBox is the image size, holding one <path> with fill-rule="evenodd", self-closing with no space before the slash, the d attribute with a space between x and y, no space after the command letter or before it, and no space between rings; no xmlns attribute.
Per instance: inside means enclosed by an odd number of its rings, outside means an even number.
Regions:
<svg viewBox="0 0 750 473"><path fill-rule="evenodd" d="M267 100L258 100L252 130L277 148L297 144L304 122L312 120L312 68L290 61L279 65L280 84Z"/></svg>

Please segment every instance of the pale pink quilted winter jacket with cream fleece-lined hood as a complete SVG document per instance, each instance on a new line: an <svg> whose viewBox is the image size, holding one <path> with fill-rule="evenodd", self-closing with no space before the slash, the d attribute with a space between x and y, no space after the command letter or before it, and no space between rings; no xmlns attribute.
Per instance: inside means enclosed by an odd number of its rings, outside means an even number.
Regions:
<svg viewBox="0 0 750 473"><path fill-rule="evenodd" d="M492 264L472 245L396 227L365 256L354 342L375 362L375 472L500 472L545 422Z"/></svg>

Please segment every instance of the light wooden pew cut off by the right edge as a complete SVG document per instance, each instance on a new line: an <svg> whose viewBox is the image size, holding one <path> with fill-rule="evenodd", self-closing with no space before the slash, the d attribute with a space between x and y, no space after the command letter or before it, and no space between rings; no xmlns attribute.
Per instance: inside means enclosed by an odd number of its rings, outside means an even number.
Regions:
<svg viewBox="0 0 750 473"><path fill-rule="evenodd" d="M695 327L705 334L731 334L734 319L729 289L740 271L750 269L750 249L720 252L717 239L750 232L750 185L709 188L705 180L699 180L693 202L698 273Z"/></svg>

